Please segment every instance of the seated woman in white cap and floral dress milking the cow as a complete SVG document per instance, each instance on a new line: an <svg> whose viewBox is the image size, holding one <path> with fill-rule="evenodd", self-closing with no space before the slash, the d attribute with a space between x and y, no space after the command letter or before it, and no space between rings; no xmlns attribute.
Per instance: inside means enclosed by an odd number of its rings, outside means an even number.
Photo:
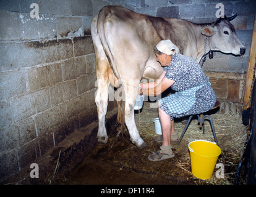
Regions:
<svg viewBox="0 0 256 197"><path fill-rule="evenodd" d="M164 67L163 73L154 82L140 83L140 94L158 95L168 87L176 91L158 101L163 145L148 159L161 161L174 157L171 146L171 140L177 140L174 118L210 110L215 105L216 95L201 66L193 58L179 54L173 42L160 41L154 50L156 60Z"/></svg>

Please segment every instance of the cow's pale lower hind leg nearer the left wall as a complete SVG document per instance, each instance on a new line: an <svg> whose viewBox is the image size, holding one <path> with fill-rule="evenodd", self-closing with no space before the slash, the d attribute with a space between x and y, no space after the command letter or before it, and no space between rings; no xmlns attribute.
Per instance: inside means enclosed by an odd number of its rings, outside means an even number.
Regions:
<svg viewBox="0 0 256 197"><path fill-rule="evenodd" d="M98 80L98 89L95 96L95 103L98 111L98 142L107 143L108 134L106 132L105 117L108 108L108 81Z"/></svg>

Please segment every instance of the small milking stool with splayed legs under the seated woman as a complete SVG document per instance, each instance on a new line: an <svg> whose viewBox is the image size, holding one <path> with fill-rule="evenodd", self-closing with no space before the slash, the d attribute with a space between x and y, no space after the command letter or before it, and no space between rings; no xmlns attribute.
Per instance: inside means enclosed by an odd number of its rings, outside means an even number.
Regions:
<svg viewBox="0 0 256 197"><path fill-rule="evenodd" d="M217 100L216 103L215 103L215 106L214 106L213 108L211 108L210 110L208 110L208 111L211 111L211 110L213 110L213 109L215 109L215 108L217 108L217 107L219 107L219 106L220 106L220 102ZM207 112L208 112L208 111L207 111ZM206 113L207 113L207 112L206 112ZM184 131L182 132L181 137L179 138L177 144L179 144L179 143L181 142L182 137L183 137L184 134L186 133L187 127L189 127L189 124L190 124L191 119L193 118L193 116L197 116L197 117L198 117L198 123L200 124L200 129L202 129L202 126L203 126L203 134L205 134L205 118L208 118L208 119L209 119L210 124L211 124L211 130L212 130L212 132L213 132L213 137L214 137L214 139L215 139L216 145L218 145L218 140L217 140L217 137L216 137L216 134L215 134L215 129L214 129L214 126L213 126L213 121L212 121L212 119L211 119L211 116L205 115L204 113L202 113L202 114L200 114L200 115L190 115L190 116L189 116L189 120L187 121L186 127L184 128Z"/></svg>

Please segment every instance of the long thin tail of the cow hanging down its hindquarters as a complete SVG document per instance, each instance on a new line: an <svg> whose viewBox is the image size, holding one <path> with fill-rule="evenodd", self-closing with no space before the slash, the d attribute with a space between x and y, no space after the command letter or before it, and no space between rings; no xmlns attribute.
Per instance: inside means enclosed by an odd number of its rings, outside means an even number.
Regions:
<svg viewBox="0 0 256 197"><path fill-rule="evenodd" d="M105 51L106 58L108 59L109 66L111 67L114 75L117 77L117 79L120 79L119 74L117 72L117 66L116 63L114 62L113 54L111 53L109 47L108 47L108 42L106 41L106 35L105 35L105 19L111 15L111 9L109 6L103 7L103 9L100 10L100 13L98 15L98 22L97 22L97 30L98 34L100 36L101 44L103 46L103 50ZM119 87L121 89L122 93L122 99L117 100L117 123L121 124L121 131L124 133L125 131L125 106L126 106L126 101L125 101L125 90L124 87L121 86Z"/></svg>

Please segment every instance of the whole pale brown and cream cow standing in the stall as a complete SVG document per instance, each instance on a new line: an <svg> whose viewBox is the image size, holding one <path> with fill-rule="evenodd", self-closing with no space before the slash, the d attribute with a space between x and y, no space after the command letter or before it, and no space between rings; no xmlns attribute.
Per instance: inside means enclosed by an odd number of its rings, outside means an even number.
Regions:
<svg viewBox="0 0 256 197"><path fill-rule="evenodd" d="M195 24L181 18L138 14L121 6L106 6L93 17L91 33L96 58L98 142L107 143L105 116L111 74L122 83L123 98L117 101L117 121L129 131L138 148L146 146L135 125L134 103L142 79L158 79L163 72L156 62L154 46L170 39L183 55L199 63L209 50L242 55L245 47L230 23L236 17Z"/></svg>

